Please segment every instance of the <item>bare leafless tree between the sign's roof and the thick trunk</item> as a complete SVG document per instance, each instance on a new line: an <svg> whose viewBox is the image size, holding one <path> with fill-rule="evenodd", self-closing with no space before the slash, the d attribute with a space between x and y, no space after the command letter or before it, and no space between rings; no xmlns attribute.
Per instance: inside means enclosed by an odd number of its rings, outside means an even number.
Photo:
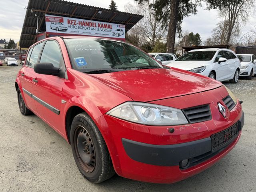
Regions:
<svg viewBox="0 0 256 192"><path fill-rule="evenodd" d="M161 23L156 21L154 11L150 7L152 3L154 3L154 0L148 0L144 4L136 6L128 3L125 5L125 10L134 14L144 15L142 20L136 24L136 31L142 43L150 43L152 48L154 48L156 42L166 39L167 31L162 30Z"/></svg>

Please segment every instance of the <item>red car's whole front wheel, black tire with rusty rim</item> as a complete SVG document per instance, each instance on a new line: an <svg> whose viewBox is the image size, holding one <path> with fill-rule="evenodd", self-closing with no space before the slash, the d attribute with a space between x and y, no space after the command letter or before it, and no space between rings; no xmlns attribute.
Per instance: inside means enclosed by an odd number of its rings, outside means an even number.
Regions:
<svg viewBox="0 0 256 192"><path fill-rule="evenodd" d="M106 143L88 114L75 116L70 132L73 156L81 174L100 183L115 174Z"/></svg>

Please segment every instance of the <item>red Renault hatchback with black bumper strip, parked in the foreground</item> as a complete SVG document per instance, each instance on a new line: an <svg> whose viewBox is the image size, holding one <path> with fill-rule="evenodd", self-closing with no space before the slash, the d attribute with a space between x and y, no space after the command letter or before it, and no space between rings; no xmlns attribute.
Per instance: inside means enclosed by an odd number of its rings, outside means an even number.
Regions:
<svg viewBox="0 0 256 192"><path fill-rule="evenodd" d="M52 37L32 45L16 78L20 112L71 144L82 175L173 183L237 144L238 99L222 83L160 65L116 40Z"/></svg>

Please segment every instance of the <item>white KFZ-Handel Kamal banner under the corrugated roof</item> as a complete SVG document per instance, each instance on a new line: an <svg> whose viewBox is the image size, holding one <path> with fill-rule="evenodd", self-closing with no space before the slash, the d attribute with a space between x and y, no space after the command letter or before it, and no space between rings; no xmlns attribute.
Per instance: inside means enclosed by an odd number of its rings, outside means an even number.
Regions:
<svg viewBox="0 0 256 192"><path fill-rule="evenodd" d="M45 15L46 32L125 38L125 25Z"/></svg>

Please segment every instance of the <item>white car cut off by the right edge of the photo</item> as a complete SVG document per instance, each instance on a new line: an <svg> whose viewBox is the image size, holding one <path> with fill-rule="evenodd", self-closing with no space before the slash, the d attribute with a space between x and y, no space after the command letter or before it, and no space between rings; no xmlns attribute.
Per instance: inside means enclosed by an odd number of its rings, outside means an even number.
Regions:
<svg viewBox="0 0 256 192"><path fill-rule="evenodd" d="M252 79L252 76L256 77L256 56L253 54L237 54L241 61L241 71L239 76L246 76L248 79Z"/></svg>

